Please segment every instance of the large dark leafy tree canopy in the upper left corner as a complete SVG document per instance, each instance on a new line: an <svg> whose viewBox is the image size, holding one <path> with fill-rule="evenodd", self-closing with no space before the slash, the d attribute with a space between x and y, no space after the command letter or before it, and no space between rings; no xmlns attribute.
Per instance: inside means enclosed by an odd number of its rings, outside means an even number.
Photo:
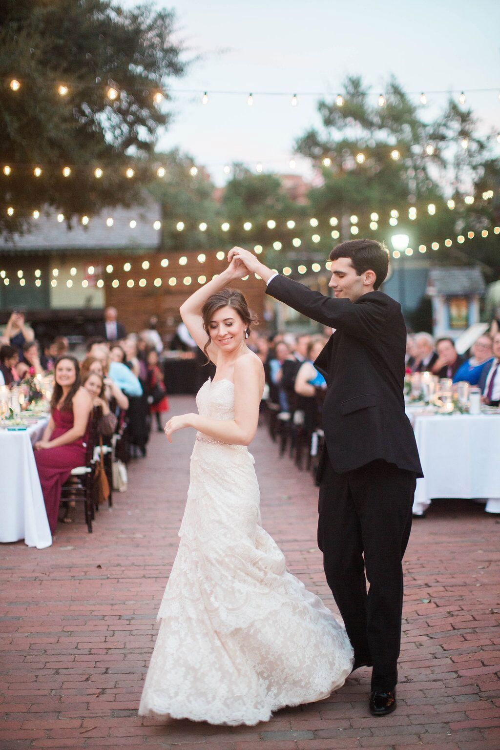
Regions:
<svg viewBox="0 0 500 750"><path fill-rule="evenodd" d="M22 230L43 206L70 220L138 201L149 179L142 162L171 116L169 81L187 66L172 10L124 10L109 0L4 0L0 29L1 160L10 166L9 175L0 173L0 232ZM15 91L11 80L19 82ZM59 86L67 87L64 95Z"/></svg>

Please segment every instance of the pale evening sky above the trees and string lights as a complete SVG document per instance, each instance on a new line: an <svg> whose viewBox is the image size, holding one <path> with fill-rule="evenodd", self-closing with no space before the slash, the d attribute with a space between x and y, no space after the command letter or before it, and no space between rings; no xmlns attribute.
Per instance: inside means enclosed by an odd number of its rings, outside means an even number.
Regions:
<svg viewBox="0 0 500 750"><path fill-rule="evenodd" d="M135 3L123 0L122 5ZM484 130L500 130L500 2L498 0L160 0L174 7L178 37L200 55L172 89L174 120L159 148L178 146L204 164L217 184L223 166L242 161L290 172L295 137L319 127L318 97L259 97L259 91L337 93L360 74L376 95L394 74L406 91L496 89L467 94ZM242 91L216 95L213 90ZM253 107L247 94L253 92ZM427 95L435 113L445 95ZM458 94L457 94L458 97ZM418 95L416 96L418 100ZM297 161L297 171L307 173Z"/></svg>

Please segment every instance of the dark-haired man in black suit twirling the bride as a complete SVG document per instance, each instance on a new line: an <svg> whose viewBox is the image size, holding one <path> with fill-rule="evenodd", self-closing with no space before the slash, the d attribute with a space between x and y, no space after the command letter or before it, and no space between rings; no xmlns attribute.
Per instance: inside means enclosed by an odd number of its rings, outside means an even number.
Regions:
<svg viewBox="0 0 500 750"><path fill-rule="evenodd" d="M406 326L399 303L378 291L387 276L388 251L370 239L337 245L330 254L333 297L271 271L247 250L232 248L228 260L235 256L265 281L269 295L335 329L314 362L328 384L318 544L354 648L353 670L373 667L370 712L391 713L402 560L422 469L403 398Z"/></svg>

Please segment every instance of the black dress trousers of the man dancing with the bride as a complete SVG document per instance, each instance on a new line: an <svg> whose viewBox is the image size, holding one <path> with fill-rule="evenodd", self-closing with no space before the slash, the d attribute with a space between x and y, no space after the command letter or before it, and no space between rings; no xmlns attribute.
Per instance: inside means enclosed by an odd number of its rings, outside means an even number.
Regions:
<svg viewBox="0 0 500 750"><path fill-rule="evenodd" d="M319 487L318 545L326 579L355 658L373 664L376 690L397 684L402 560L415 485L413 472L384 460L339 474L327 459Z"/></svg>

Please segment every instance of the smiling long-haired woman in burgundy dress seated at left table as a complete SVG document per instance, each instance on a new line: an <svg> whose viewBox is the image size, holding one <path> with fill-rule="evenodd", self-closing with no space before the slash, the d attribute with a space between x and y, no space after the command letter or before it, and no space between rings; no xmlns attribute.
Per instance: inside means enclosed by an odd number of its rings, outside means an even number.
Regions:
<svg viewBox="0 0 500 750"><path fill-rule="evenodd" d="M58 520L61 484L71 469L85 463L91 396L80 387L79 365L74 357L63 355L55 362L55 385L51 416L42 439L34 444L34 458L43 492L50 531Z"/></svg>

